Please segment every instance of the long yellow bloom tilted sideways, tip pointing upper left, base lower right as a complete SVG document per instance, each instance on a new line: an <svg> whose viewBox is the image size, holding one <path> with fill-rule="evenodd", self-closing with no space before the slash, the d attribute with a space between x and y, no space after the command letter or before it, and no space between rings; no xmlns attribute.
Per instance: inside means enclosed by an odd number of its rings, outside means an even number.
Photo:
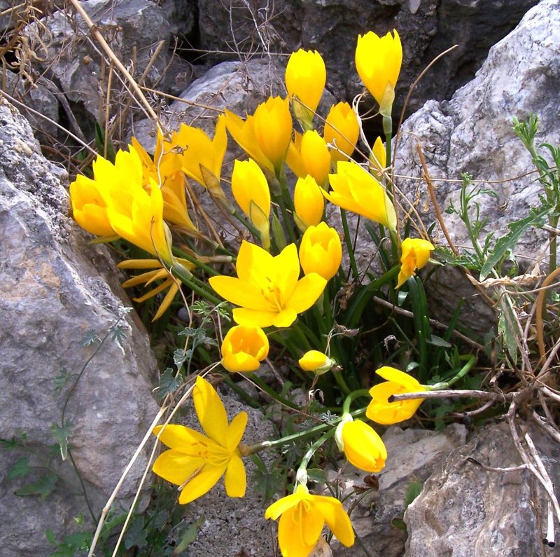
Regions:
<svg viewBox="0 0 560 557"><path fill-rule="evenodd" d="M332 191L323 195L330 202L396 230L395 207L385 188L360 165L342 160L337 163L337 173L329 174L329 179Z"/></svg>

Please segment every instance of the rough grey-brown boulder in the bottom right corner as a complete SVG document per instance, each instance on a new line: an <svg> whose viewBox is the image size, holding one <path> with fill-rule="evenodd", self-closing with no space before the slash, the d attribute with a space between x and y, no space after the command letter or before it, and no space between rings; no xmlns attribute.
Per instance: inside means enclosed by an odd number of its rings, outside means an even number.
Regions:
<svg viewBox="0 0 560 557"><path fill-rule="evenodd" d="M539 432L531 436L557 490L560 451ZM468 457L490 467L521 464L507 424L478 430L442 462L408 507L405 557L552 555L554 551L542 546L546 506L531 489L531 474L489 472L468 462Z"/></svg>

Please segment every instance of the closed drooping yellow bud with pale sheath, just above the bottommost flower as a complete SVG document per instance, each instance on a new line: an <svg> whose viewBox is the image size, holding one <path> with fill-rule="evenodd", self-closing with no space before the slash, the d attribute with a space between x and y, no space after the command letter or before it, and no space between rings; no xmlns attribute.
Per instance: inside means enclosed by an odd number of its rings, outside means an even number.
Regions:
<svg viewBox="0 0 560 557"><path fill-rule="evenodd" d="M351 415L343 417L335 433L337 445L351 465L365 472L381 472L387 450L375 430Z"/></svg>

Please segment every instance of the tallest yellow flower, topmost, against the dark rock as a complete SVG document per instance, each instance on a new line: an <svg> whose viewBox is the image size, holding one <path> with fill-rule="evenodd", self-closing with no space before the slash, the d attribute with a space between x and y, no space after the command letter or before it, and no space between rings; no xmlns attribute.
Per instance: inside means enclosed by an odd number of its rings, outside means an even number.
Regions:
<svg viewBox="0 0 560 557"><path fill-rule="evenodd" d="M367 90L379 104L382 116L391 116L395 85L402 64L402 46L395 29L384 37L374 32L358 36L356 70Z"/></svg>

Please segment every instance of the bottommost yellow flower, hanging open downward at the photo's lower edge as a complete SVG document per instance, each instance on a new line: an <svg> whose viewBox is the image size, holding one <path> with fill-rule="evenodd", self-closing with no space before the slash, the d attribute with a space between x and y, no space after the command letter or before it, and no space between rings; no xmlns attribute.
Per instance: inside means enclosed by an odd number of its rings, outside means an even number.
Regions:
<svg viewBox="0 0 560 557"><path fill-rule="evenodd" d="M272 503L265 518L276 520L278 542L283 557L307 557L321 536L325 522L338 541L349 547L354 543L354 532L342 503L335 497L311 495L306 486L297 484L292 495Z"/></svg>

